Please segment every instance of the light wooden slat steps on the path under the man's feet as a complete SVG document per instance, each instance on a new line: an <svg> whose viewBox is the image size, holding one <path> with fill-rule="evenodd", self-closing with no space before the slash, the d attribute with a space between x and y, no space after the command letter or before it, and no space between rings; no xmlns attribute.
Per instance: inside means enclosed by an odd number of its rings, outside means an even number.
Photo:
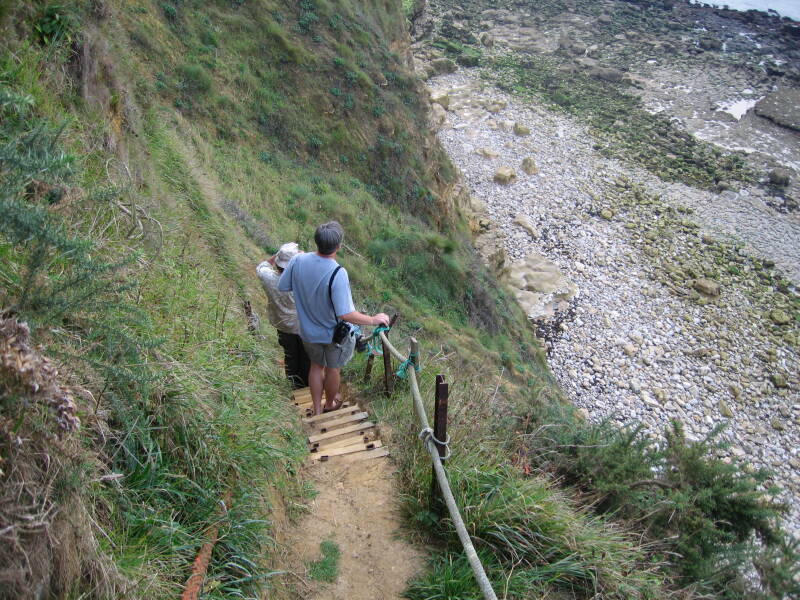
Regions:
<svg viewBox="0 0 800 600"><path fill-rule="evenodd" d="M345 386L342 386L342 395L345 402L341 408L314 415L311 390L301 388L293 392L294 405L308 435L309 460L351 463L389 456L389 450L379 438L377 426L368 420L369 413L347 399ZM324 393L322 402L325 402Z"/></svg>

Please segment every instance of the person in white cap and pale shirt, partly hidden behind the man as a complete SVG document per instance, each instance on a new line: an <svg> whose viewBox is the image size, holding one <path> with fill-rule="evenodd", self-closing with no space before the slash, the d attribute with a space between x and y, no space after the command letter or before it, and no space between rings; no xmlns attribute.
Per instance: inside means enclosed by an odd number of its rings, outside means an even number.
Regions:
<svg viewBox="0 0 800 600"><path fill-rule="evenodd" d="M283 348L286 377L295 389L308 386L311 363L303 347L303 340L300 339L294 296L292 292L280 291L278 280L286 265L297 254L301 254L300 248L296 243L289 242L281 246L273 257L256 267L256 274L269 299L267 316L278 330L278 343Z"/></svg>

